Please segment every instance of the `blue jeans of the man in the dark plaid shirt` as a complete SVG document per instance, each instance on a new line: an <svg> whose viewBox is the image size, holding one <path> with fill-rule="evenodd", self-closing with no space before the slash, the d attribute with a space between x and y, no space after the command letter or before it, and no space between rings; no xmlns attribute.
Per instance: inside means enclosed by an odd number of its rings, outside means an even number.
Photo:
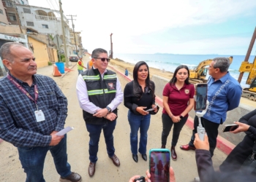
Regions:
<svg viewBox="0 0 256 182"><path fill-rule="evenodd" d="M26 173L26 182L45 182L42 175L45 156L50 150L57 172L66 178L71 174L67 163L67 135L56 146L18 147L19 159Z"/></svg>

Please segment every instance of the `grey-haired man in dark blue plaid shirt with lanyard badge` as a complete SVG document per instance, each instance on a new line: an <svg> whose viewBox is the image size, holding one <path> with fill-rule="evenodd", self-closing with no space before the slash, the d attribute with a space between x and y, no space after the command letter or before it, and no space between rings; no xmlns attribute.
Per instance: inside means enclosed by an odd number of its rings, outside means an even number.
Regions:
<svg viewBox="0 0 256 182"><path fill-rule="evenodd" d="M0 79L0 138L18 147L26 181L45 181L49 150L60 181L81 181L67 162L67 135L56 135L64 128L67 98L53 79L37 75L34 55L23 44L3 44L0 56L9 70Z"/></svg>

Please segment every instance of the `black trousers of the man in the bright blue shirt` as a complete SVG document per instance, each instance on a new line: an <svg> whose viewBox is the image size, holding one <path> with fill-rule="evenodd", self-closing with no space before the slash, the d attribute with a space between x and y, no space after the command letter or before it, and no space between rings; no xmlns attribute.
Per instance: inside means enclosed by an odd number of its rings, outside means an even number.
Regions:
<svg viewBox="0 0 256 182"><path fill-rule="evenodd" d="M203 127L206 129L206 133L208 135L208 141L210 144L210 152L211 152L211 157L214 156L214 149L216 148L217 145L217 136L218 136L218 128L219 124L215 122L211 122L208 119L205 119L201 117L201 122ZM197 126L198 126L198 117L195 116L194 119L194 130L192 133L191 140L189 141L189 146L194 146L194 140L195 140L195 133L197 133Z"/></svg>

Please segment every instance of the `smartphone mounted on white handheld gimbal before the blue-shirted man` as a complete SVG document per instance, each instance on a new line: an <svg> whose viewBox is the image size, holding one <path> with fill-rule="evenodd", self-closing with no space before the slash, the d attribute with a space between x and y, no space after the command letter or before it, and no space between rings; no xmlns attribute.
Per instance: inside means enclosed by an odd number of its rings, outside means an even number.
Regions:
<svg viewBox="0 0 256 182"><path fill-rule="evenodd" d="M206 110L207 102L207 84L196 84L195 85L195 111Z"/></svg>

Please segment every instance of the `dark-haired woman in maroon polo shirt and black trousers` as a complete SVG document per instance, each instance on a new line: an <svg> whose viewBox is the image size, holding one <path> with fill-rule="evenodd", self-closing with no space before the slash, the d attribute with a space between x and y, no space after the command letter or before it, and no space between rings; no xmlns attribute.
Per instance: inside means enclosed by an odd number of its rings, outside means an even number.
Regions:
<svg viewBox="0 0 256 182"><path fill-rule="evenodd" d="M175 146L182 127L187 122L188 113L194 106L195 87L189 83L189 68L181 65L176 68L173 78L162 92L164 109L162 111L162 149L165 149L167 137L173 127L171 157L177 159Z"/></svg>

